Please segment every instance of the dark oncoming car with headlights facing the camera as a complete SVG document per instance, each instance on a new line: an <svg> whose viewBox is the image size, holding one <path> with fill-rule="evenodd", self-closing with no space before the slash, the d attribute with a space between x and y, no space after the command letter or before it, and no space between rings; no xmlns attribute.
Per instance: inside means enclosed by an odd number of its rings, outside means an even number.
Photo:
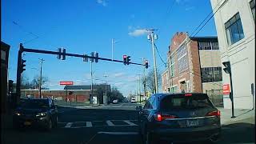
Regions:
<svg viewBox="0 0 256 144"><path fill-rule="evenodd" d="M57 106L50 98L22 99L14 112L14 128L27 126L51 130L58 124Z"/></svg>

